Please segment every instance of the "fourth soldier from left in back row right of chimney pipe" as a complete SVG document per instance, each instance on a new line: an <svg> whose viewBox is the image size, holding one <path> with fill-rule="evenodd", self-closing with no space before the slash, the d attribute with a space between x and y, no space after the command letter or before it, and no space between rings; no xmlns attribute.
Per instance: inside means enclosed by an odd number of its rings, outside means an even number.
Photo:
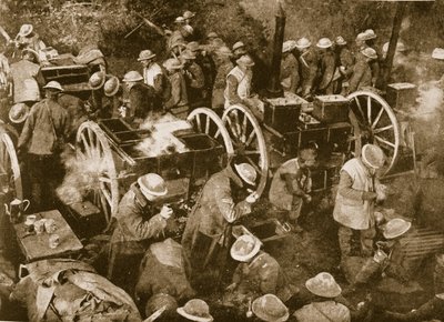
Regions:
<svg viewBox="0 0 444 322"><path fill-rule="evenodd" d="M349 88L350 78L353 74L354 56L347 48L347 42L341 36L336 37L334 43L335 43L336 67L340 73L336 80L334 92L345 93Z"/></svg>

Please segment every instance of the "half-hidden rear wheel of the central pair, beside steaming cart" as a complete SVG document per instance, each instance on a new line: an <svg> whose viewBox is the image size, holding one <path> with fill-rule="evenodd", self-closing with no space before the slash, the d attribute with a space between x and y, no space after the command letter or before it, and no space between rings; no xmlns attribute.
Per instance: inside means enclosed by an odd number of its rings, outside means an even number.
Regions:
<svg viewBox="0 0 444 322"><path fill-rule="evenodd" d="M194 131L205 133L224 145L229 157L234 154L230 134L221 118L214 111L206 108L199 108L193 110L186 120L193 125Z"/></svg>

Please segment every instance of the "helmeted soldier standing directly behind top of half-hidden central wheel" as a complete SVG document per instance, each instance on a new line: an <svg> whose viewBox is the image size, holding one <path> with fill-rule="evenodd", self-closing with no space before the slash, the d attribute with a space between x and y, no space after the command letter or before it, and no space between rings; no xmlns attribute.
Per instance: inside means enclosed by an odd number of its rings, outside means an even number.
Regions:
<svg viewBox="0 0 444 322"><path fill-rule="evenodd" d="M202 68L195 62L196 56L190 50L185 50L180 56L183 64L184 77L186 81L186 93L191 109L203 103L203 90L205 77Z"/></svg>

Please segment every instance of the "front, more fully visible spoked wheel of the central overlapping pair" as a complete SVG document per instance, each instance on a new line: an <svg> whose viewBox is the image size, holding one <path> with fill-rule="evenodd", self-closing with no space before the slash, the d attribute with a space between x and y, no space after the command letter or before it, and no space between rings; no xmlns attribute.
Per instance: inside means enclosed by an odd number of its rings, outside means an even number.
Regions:
<svg viewBox="0 0 444 322"><path fill-rule="evenodd" d="M256 170L256 192L261 195L269 177L269 155L261 127L253 113L243 105L228 108L222 121L233 143L234 155L244 159Z"/></svg>

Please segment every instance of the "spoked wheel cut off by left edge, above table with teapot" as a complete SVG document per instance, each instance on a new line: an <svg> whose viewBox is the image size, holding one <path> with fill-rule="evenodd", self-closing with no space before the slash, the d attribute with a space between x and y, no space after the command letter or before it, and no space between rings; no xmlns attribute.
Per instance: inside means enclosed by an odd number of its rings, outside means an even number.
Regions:
<svg viewBox="0 0 444 322"><path fill-rule="evenodd" d="M23 200L19 160L11 137L4 131L0 132L0 174L2 192Z"/></svg>

